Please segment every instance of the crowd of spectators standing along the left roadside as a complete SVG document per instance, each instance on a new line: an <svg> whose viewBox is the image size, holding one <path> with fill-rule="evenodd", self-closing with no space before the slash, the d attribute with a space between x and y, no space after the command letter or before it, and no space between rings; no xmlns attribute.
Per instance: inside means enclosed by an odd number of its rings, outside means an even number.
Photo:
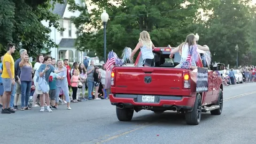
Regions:
<svg viewBox="0 0 256 144"><path fill-rule="evenodd" d="M89 64L85 58L83 63L74 62L70 68L68 59L56 61L51 56L39 54L32 66L25 49L19 51L20 58L16 61L12 57L16 50L15 45L8 43L6 50L7 53L1 56L0 63L2 114L15 113L18 109L31 110L32 107L39 106L40 112L52 112L60 104L66 104L67 109L71 110L70 102L87 100L87 89L88 100L108 99L104 64L102 68L95 67L94 61Z"/></svg>

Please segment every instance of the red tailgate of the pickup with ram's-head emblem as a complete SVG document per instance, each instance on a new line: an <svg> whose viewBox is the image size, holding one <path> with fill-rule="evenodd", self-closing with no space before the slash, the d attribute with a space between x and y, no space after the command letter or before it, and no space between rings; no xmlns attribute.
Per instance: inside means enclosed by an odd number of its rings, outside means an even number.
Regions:
<svg viewBox="0 0 256 144"><path fill-rule="evenodd" d="M115 93L180 95L182 68L116 67Z"/></svg>

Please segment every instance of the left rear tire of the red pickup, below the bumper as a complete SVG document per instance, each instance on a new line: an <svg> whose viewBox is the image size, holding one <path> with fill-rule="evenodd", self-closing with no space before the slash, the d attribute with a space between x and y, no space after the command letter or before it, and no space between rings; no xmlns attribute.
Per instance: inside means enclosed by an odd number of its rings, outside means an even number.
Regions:
<svg viewBox="0 0 256 144"><path fill-rule="evenodd" d="M123 108L120 109L116 106L116 116L119 121L131 121L133 116L133 109Z"/></svg>

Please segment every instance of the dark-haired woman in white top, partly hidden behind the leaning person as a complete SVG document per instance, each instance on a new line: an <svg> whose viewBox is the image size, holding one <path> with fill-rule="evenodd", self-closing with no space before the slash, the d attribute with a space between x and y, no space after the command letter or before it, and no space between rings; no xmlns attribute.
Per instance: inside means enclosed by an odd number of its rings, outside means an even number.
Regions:
<svg viewBox="0 0 256 144"><path fill-rule="evenodd" d="M38 71L39 67L40 67L41 64L43 63L43 61L44 61L44 56L43 56L42 54L39 54L39 55L37 56L37 62L35 63L34 68L33 68L34 74L36 74L36 72ZM36 83L36 80L37 80L37 76L36 76L36 75L34 75L33 80L34 80L34 83ZM34 92L34 94L33 94L33 104L32 104L32 107L39 107L39 106L36 104L37 96L38 96L38 94L37 94L36 92ZM44 99L44 101L45 101L45 96L43 96L43 99ZM41 104L41 105L43 105L43 104Z"/></svg>

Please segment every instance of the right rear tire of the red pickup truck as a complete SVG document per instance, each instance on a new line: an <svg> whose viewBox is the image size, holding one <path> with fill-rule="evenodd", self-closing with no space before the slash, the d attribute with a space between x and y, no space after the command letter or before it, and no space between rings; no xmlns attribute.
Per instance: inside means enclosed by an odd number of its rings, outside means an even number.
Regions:
<svg viewBox="0 0 256 144"><path fill-rule="evenodd" d="M186 124L189 125L198 125L201 121L202 114L202 98L199 93L196 95L196 99L194 102L194 107L192 112L187 112L185 114Z"/></svg>

